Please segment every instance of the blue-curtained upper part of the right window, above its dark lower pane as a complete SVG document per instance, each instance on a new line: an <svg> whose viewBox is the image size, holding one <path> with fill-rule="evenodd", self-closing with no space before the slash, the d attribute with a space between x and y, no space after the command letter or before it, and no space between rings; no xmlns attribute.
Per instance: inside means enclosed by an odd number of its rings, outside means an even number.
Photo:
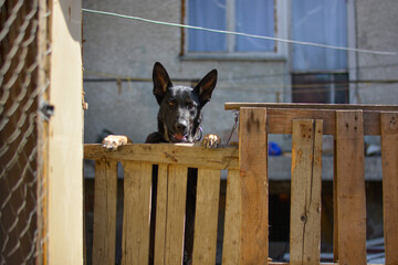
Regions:
<svg viewBox="0 0 398 265"><path fill-rule="evenodd" d="M292 1L292 38L295 41L347 45L346 0ZM335 71L347 67L347 52L293 45L293 71Z"/></svg>

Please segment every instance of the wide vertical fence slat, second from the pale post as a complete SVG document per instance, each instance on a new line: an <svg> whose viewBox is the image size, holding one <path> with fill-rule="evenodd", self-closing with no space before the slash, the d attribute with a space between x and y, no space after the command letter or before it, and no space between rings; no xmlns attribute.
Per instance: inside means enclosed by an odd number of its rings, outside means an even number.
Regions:
<svg viewBox="0 0 398 265"><path fill-rule="evenodd" d="M125 161L123 168L125 176L122 264L147 264L153 166Z"/></svg>

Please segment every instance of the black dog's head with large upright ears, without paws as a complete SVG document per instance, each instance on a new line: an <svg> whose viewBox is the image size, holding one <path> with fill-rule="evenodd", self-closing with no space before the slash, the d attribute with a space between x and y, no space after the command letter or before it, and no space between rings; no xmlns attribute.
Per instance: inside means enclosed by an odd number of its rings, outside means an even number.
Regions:
<svg viewBox="0 0 398 265"><path fill-rule="evenodd" d="M210 100L217 70L210 71L195 88L174 86L167 71L155 63L154 95L159 104L158 131L170 142L192 142L199 134L201 109Z"/></svg>

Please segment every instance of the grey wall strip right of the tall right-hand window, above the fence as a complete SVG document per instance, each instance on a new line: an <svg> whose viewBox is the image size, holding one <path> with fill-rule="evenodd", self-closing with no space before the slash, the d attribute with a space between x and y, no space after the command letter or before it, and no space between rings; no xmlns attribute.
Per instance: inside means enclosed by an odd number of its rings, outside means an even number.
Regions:
<svg viewBox="0 0 398 265"><path fill-rule="evenodd" d="M398 3L396 0L356 0L357 46L398 52ZM357 55L359 80L398 80L398 55ZM358 86L364 104L398 105L398 84Z"/></svg>

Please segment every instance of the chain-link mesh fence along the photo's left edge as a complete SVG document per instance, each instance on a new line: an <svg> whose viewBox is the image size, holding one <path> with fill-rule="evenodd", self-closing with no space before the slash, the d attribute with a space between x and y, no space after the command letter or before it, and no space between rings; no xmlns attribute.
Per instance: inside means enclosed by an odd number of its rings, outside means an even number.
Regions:
<svg viewBox="0 0 398 265"><path fill-rule="evenodd" d="M45 259L46 7L0 0L1 265Z"/></svg>

